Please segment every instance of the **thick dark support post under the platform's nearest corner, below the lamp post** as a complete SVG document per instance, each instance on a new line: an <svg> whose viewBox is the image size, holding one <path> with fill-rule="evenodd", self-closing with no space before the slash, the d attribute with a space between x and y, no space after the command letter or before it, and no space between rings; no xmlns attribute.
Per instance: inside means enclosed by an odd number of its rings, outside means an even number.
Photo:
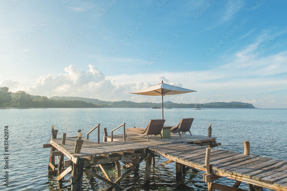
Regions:
<svg viewBox="0 0 287 191"><path fill-rule="evenodd" d="M78 164L73 163L71 176L71 191L82 191L84 159L79 159Z"/></svg>

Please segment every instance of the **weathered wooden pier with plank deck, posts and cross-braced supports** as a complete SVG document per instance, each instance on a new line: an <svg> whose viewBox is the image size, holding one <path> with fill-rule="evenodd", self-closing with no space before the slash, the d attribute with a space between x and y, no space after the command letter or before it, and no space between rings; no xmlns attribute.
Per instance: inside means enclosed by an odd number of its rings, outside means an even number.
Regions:
<svg viewBox="0 0 287 191"><path fill-rule="evenodd" d="M243 190L238 188L240 183L246 182L250 191L263 190L263 187L287 191L287 161L249 155L247 141L245 154L241 154L218 149L216 146L220 143L216 143L216 137L211 135L208 137L182 134L179 137L178 134L173 134L163 139L152 136L148 141L138 135L128 135L125 138L125 133L108 136L104 129L105 142L99 140L95 142L78 137L66 138L64 134L62 138L57 139L58 131L55 131L57 130L52 131L53 139L50 140L50 144L43 145L43 148L51 147L48 174L57 176L56 179L61 181L64 176L71 173L72 191L82 190L83 172L107 183L109 185L107 190L119 188L121 181L144 160L146 170L143 184L149 184L152 159L155 155L168 159L162 165L175 162L177 178L184 178L185 171L189 169L205 171L203 180L208 183L208 190L239 191ZM64 155L69 160L64 161ZM55 164L55 156L58 158L58 164ZM123 174L119 161L128 168ZM111 162L115 162L117 167L115 181L111 180L103 167L103 164ZM106 178L93 172L95 166L101 168ZM222 177L236 180L234 186L212 182Z"/></svg>

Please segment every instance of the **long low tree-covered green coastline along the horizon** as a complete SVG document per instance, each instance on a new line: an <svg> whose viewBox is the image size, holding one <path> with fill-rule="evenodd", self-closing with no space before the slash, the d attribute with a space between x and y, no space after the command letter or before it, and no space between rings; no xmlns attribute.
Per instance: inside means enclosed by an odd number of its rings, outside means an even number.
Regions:
<svg viewBox="0 0 287 191"><path fill-rule="evenodd" d="M162 103L152 102L132 102L132 101L101 101L83 97L59 97L54 96L50 99L46 96L34 96L25 91L16 93L9 92L9 88L0 87L0 107L1 108L150 108ZM166 102L164 102L164 106ZM168 102L172 108L195 108L195 104ZM212 102L197 104L201 108L255 108L250 103L242 102Z"/></svg>

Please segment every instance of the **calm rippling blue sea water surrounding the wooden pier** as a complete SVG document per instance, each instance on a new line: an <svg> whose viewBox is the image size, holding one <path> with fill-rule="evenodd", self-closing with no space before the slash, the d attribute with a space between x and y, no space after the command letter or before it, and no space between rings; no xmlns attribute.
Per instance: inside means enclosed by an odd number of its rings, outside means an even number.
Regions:
<svg viewBox="0 0 287 191"><path fill-rule="evenodd" d="M67 133L67 137L76 136L77 130L84 134L100 123L101 141L103 128L110 130L126 123L126 127L146 127L150 119L161 119L161 109L151 108L91 108L91 109L0 109L0 190L70 190L69 176L62 184L55 177L47 176L49 149L42 149L51 135L51 125L59 130L58 137ZM244 152L243 141L250 141L251 155L263 155L287 160L286 126L287 109L170 109L164 110L165 125L177 125L182 118L194 118L192 134L207 135L209 123L212 123L212 135L218 137L222 149ZM9 150L4 152L4 126L9 126ZM120 128L117 132L122 134ZM96 132L90 139L96 141ZM4 184L4 155L9 153L9 187ZM207 190L202 181L202 172L187 171L185 180L175 179L175 164L164 167L160 162L163 157L156 157L152 167L151 184L142 186L144 162L121 182L121 186L132 190ZM115 178L116 170L107 167ZM100 173L100 170L98 173ZM125 169L122 169L122 173ZM222 179L223 184L232 186L235 182ZM106 184L84 174L83 190L103 190ZM248 189L248 184L240 188ZM267 190L267 189L264 189Z"/></svg>

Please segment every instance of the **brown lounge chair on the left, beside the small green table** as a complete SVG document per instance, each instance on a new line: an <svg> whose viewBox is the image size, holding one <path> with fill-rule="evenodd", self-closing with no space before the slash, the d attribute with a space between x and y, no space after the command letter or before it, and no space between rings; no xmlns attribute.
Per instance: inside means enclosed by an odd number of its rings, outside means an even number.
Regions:
<svg viewBox="0 0 287 191"><path fill-rule="evenodd" d="M151 119L150 123L146 128L140 128L140 127L134 127L134 128L127 128L126 129L126 135L127 134L136 134L141 137L147 136L148 135L161 135L162 127L164 124L165 119ZM148 138L148 141L149 138Z"/></svg>

